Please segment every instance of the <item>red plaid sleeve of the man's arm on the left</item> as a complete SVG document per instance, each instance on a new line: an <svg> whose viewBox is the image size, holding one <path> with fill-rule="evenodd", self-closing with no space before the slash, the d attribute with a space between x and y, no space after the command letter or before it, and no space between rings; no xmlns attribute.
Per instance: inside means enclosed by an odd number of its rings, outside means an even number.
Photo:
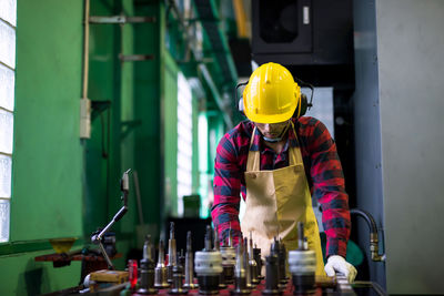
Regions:
<svg viewBox="0 0 444 296"><path fill-rule="evenodd" d="M211 217L214 227L218 227L221 244L228 242L231 226L233 242L238 245L241 237L239 223L241 169L229 134L222 137L216 149L213 191L214 204L211 208Z"/></svg>

